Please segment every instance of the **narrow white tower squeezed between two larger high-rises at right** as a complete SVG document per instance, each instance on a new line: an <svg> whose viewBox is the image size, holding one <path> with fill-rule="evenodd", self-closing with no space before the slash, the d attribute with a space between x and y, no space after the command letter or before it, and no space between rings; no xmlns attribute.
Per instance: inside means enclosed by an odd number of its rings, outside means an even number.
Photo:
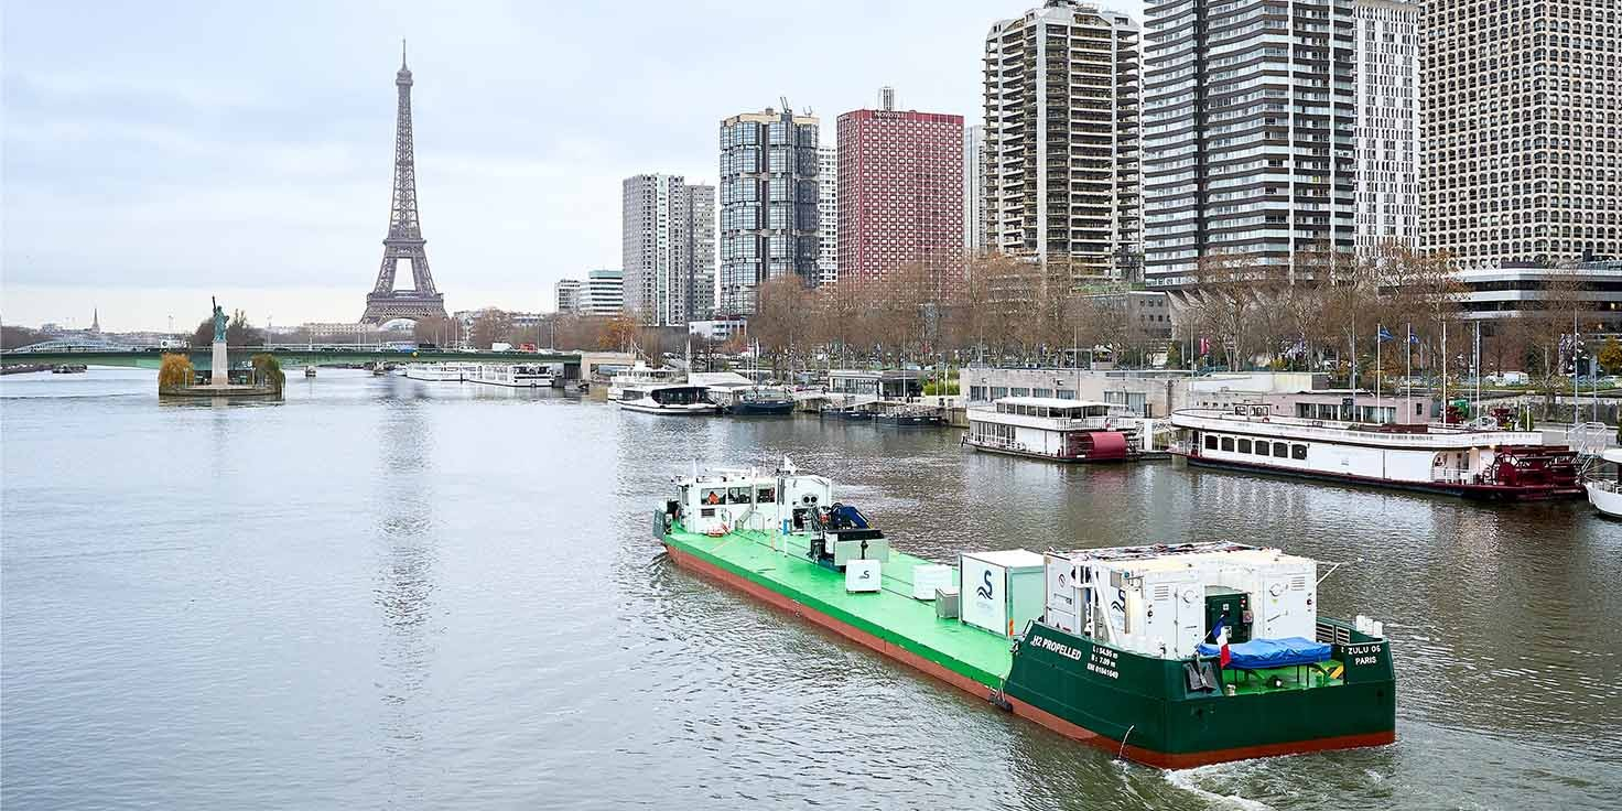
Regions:
<svg viewBox="0 0 1622 811"><path fill-rule="evenodd" d="M1419 5L1353 0L1359 255L1419 248Z"/></svg>

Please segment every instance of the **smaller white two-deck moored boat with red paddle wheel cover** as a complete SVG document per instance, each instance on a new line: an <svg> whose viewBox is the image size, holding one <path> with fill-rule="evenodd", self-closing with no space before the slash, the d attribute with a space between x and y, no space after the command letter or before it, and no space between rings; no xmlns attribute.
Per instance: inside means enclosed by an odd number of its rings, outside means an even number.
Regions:
<svg viewBox="0 0 1622 811"><path fill-rule="evenodd" d="M1142 456L1140 418L1111 402L1002 397L968 409L963 444L1054 462L1122 462Z"/></svg>

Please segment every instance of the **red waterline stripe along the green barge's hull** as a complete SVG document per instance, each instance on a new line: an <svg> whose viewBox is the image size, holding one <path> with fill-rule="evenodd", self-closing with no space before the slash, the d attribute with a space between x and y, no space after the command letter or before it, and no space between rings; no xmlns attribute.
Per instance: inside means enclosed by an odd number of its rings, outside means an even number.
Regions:
<svg viewBox="0 0 1622 811"><path fill-rule="evenodd" d="M850 639L853 642L860 642L863 647L873 649L873 650L876 650L879 654L884 654L884 655L887 655L887 657L890 657L890 659L894 659L897 662L912 665L913 668L921 670L921 672L925 672L925 673L928 673L928 675L931 675L934 678L939 678L941 681L946 681L947 684L952 684L954 688L962 689L963 693L968 693L968 694L972 694L975 697L986 699L986 701L989 701L993 697L993 691L986 684L981 684L981 683L978 683L978 681L975 681L975 680L972 680L972 678L968 678L968 676L965 676L962 673L957 673L957 672L954 672L954 670L950 670L950 668L947 668L944 665L939 665L936 662L929 662L928 659L923 659L918 654L913 654L912 650L899 647L899 646L895 646L892 642L886 642L884 639L879 639L879 637L876 637L876 636L873 636L873 634L869 634L869 633L866 633L866 631L863 631L860 628L855 628L855 626L850 626L850 624L842 623L839 620L834 620L832 616L829 616L829 615L826 615L822 611L809 608L808 605L805 605L801 602L796 602L796 600L793 600L793 599L790 599L790 597L787 597L783 594L774 592L772 589L767 589L767 587L764 587L764 586L761 586L761 584L757 584L757 582L754 582L754 581L751 581L748 577L741 577L738 574L728 573L728 571L722 569L720 566L715 566L715 564L712 564L712 563L709 563L706 560L701 560L701 558L697 558L694 555L688 555L686 551L681 551L681 550L673 548L670 545L665 545L665 551L670 555L670 560L676 563L676 566L681 566L684 569L693 569L693 571L696 571L696 573L699 573L699 574L702 574L706 577L719 581L719 582L722 582L725 586L730 586L733 589L738 589L738 590L741 590L741 592L744 592L744 594L748 594L748 595L751 595L751 597L754 597L754 599L757 599L757 600L761 600L761 602L764 602L767 605L772 605L774 608L779 608L779 610L783 610L783 611L792 613L795 616L809 620L809 621L813 621L813 623L816 623L816 624L819 624L822 628L827 628L829 631L834 631L839 636L843 636L843 637L847 637L847 639ZM1137 762L1155 766L1155 767L1160 767L1160 769L1189 769L1189 767L1194 767L1194 766L1207 766L1207 764L1226 762L1226 761L1244 761L1244 759L1251 759L1251 757L1273 757L1273 756L1280 756L1280 754L1302 754L1302 753L1312 753L1312 751L1322 751L1322 749L1353 749L1353 748L1358 748L1358 746L1382 746L1382 744L1387 744L1387 743L1392 743L1392 741L1397 740L1397 732L1395 730L1388 730L1388 732L1377 732L1377 733L1367 733L1367 735L1341 735L1341 736L1337 736L1337 738L1317 738L1317 740L1309 740L1309 741L1288 741L1288 743L1273 743L1273 744L1265 744L1265 746L1238 746L1238 748L1231 748L1231 749L1212 749L1212 751L1204 751L1204 753L1171 754L1171 753L1158 753L1158 751L1153 751L1153 749L1145 749L1142 746L1131 746L1131 744L1127 744L1127 746L1122 748L1121 741L1116 741L1113 738L1106 738L1106 736L1098 735L1096 732L1092 732L1092 730L1088 730L1085 727L1079 727L1075 723L1071 723L1071 722L1067 722L1067 720L1064 720L1064 719L1061 719L1061 717L1058 717L1058 715L1054 715L1054 714L1051 714L1048 710L1043 710L1043 709L1038 709L1035 706L1025 704L1023 701L1011 699L1007 696L1004 696L1004 701L1007 701L1009 706L1012 706L1015 715L1020 715L1020 717L1030 719L1030 720L1033 720L1036 723L1041 723L1043 727L1048 727L1049 730L1053 730L1053 732L1056 732L1059 735L1064 735L1066 738L1072 738L1075 741L1085 743L1088 746L1096 746L1096 748L1109 751L1109 753L1126 754L1126 756L1132 757Z"/></svg>

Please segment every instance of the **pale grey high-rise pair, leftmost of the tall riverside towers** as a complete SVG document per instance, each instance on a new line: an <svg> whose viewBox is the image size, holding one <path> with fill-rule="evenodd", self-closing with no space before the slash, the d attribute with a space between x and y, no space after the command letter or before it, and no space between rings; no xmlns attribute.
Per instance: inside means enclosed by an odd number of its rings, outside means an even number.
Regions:
<svg viewBox="0 0 1622 811"><path fill-rule="evenodd" d="M709 315L714 271L714 188L681 175L624 178L621 258L624 308L649 326L678 326Z"/></svg>

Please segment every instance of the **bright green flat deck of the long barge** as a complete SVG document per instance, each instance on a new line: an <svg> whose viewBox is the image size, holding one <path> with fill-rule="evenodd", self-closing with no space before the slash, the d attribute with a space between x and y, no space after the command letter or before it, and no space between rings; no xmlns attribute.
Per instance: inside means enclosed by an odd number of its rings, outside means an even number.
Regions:
<svg viewBox="0 0 1622 811"><path fill-rule="evenodd" d="M1012 665L1012 641L957 620L939 620L933 602L913 600L913 568L933 561L890 550L890 558L881 563L884 590L847 594L843 573L806 558L806 535L743 530L717 539L686 532L676 524L665 540L712 566L989 688L1001 688ZM955 581L955 569L952 576Z"/></svg>

